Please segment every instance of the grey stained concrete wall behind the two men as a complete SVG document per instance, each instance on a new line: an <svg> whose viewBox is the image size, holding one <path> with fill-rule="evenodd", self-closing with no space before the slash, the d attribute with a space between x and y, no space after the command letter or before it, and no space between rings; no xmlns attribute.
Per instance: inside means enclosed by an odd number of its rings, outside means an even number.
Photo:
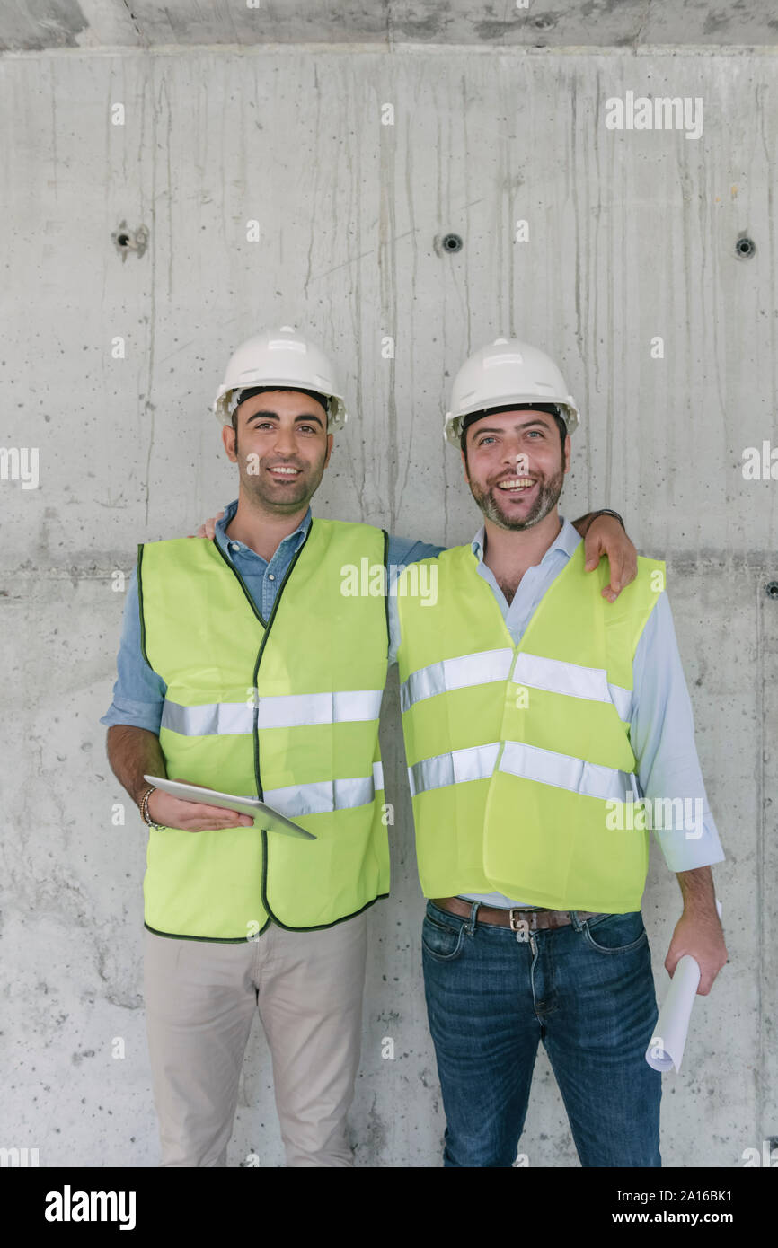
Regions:
<svg viewBox="0 0 778 1248"><path fill-rule="evenodd" d="M702 137L607 130L604 101L628 90L702 97ZM778 602L764 590L778 579L778 487L741 469L744 447L778 443L777 104L769 52L0 60L0 434L40 449L37 489L0 482L4 1144L39 1147L42 1166L157 1162L145 836L97 723L124 605L112 572L130 570L137 540L192 532L234 497L209 404L231 349L273 322L318 337L346 377L352 419L317 514L435 542L480 523L441 436L458 364L498 333L563 364L583 412L563 512L616 507L641 549L669 560L728 855L714 875L731 963L697 1001L682 1075L664 1077L664 1163L736 1166L778 1134ZM150 231L140 260L111 242L122 220ZM529 241L515 241L517 220ZM436 250L447 231L461 252ZM736 256L741 233L749 260ZM125 358L112 357L119 336ZM395 679L385 706L395 889L370 914L353 1139L361 1166L437 1166ZM644 914L661 996L679 900L654 846ZM521 1147L532 1166L578 1164L542 1050ZM230 1164L252 1148L282 1162L259 1023Z"/></svg>

